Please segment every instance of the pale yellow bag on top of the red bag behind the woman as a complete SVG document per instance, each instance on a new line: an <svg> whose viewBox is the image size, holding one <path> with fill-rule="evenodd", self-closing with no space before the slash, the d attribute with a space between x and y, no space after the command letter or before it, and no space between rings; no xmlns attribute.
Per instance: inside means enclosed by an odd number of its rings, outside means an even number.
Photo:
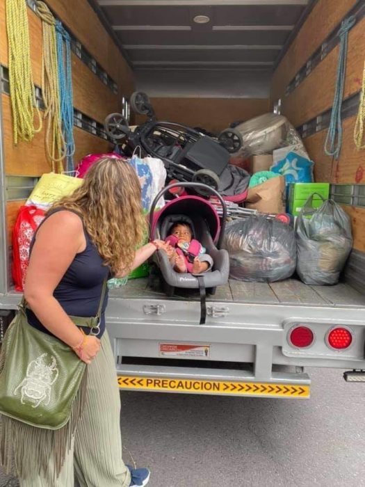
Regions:
<svg viewBox="0 0 365 487"><path fill-rule="evenodd" d="M70 195L83 183L82 179L65 174L45 173L35 185L26 205L48 209L55 201Z"/></svg>

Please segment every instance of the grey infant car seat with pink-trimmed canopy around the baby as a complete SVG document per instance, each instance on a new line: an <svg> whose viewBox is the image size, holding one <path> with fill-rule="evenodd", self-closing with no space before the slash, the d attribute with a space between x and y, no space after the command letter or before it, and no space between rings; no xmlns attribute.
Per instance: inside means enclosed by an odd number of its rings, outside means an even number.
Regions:
<svg viewBox="0 0 365 487"><path fill-rule="evenodd" d="M208 200L195 195L185 195L175 200L170 200L162 209L154 211L161 196L166 191L175 187L204 186L206 191L210 191L220 200L222 205L222 224L216 209ZM223 235L225 232L225 219L227 209L222 196L209 186L199 183L175 183L166 186L160 191L152 203L150 213L150 234L149 238L165 240L177 222L184 222L190 225L193 230L193 239L200 241L206 248L206 253L213 259L211 271L200 275L191 273L178 273L172 268L168 255L159 250L154 254L154 263L159 269L160 277L168 296L175 294L175 287L200 290L200 324L205 323L206 319L206 293L214 294L216 287L226 284L229 276L229 256L227 250L220 250Z"/></svg>

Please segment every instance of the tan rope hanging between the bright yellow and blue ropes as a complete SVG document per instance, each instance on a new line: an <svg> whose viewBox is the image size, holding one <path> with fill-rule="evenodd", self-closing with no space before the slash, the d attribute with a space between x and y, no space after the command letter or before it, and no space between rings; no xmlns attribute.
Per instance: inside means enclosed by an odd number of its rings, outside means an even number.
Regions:
<svg viewBox="0 0 365 487"><path fill-rule="evenodd" d="M65 139L60 119L60 90L57 72L56 20L48 6L35 0L38 15L42 19L42 94L44 118L48 118L46 133L47 156L55 173L63 172L62 160L65 158Z"/></svg>

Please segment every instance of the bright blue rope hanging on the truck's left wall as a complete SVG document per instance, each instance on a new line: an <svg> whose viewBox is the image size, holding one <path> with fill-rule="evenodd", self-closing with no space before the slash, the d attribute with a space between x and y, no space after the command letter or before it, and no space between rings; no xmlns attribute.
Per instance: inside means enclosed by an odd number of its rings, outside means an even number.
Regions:
<svg viewBox="0 0 365 487"><path fill-rule="evenodd" d="M72 94L72 64L70 35L56 21L58 83L60 85L60 117L66 144L67 171L74 171L74 101Z"/></svg>

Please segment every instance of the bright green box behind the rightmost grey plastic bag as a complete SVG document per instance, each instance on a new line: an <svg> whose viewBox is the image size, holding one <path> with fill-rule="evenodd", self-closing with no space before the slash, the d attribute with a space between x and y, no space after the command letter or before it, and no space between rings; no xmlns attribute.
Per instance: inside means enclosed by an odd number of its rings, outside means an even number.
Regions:
<svg viewBox="0 0 365 487"><path fill-rule="evenodd" d="M318 193L324 200L328 200L330 196L330 183L293 183L289 184L288 194L288 213L298 216L300 210L305 205L309 196L313 193ZM312 207L319 208L322 206L323 200L320 196L314 195Z"/></svg>

